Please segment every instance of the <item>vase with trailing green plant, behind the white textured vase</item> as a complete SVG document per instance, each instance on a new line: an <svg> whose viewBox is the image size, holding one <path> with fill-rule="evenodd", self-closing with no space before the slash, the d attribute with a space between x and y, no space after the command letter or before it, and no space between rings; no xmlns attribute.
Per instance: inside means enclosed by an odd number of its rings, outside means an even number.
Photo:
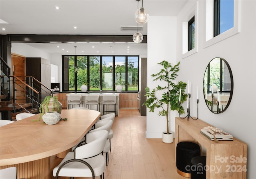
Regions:
<svg viewBox="0 0 256 179"><path fill-rule="evenodd" d="M57 111L58 113L61 113L61 110L62 103L58 101L57 96L46 96L39 107L39 120L42 117L42 115L44 115L48 111Z"/></svg>

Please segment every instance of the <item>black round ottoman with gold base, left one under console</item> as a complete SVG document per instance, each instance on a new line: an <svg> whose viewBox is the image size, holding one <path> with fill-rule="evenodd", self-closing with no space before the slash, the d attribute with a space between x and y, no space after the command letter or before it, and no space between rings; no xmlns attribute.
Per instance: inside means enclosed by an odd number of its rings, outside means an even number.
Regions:
<svg viewBox="0 0 256 179"><path fill-rule="evenodd" d="M179 142L176 146L176 167L177 172L184 176L191 176L191 159L201 154L198 144L193 142Z"/></svg>

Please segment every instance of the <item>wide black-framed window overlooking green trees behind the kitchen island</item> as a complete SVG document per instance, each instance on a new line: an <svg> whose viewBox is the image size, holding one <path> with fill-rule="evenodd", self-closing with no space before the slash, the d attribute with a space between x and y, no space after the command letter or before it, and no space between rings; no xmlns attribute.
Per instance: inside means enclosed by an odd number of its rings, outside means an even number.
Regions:
<svg viewBox="0 0 256 179"><path fill-rule="evenodd" d="M138 91L139 56L62 56L64 91Z"/></svg>

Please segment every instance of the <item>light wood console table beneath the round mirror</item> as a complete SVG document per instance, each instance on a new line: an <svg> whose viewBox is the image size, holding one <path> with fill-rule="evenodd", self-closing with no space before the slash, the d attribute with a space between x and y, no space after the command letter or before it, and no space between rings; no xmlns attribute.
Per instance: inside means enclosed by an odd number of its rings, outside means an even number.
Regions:
<svg viewBox="0 0 256 179"><path fill-rule="evenodd" d="M208 125L210 124L200 119L187 120L176 117L175 146L182 141L191 141L206 148L207 179L246 179L247 144L236 138L233 141L218 143L210 141L200 133L200 130Z"/></svg>

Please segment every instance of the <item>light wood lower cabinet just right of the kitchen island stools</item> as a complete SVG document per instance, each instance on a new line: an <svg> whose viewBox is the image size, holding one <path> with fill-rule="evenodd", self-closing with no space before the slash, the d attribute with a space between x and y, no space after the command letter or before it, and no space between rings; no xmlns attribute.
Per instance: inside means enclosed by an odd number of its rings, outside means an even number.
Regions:
<svg viewBox="0 0 256 179"><path fill-rule="evenodd" d="M138 93L120 93L120 109L138 109Z"/></svg>

